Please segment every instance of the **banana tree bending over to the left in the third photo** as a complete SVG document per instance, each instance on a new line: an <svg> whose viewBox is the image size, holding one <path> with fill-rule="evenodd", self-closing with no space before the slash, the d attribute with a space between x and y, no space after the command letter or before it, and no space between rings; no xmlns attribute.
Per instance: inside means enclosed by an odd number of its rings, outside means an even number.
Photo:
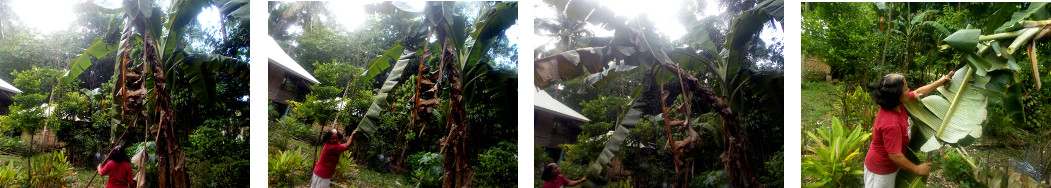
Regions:
<svg viewBox="0 0 1051 188"><path fill-rule="evenodd" d="M731 107L731 105L737 105L739 103L736 101L742 100L740 92L744 87L753 88L754 91L760 93L769 93L768 96L760 95L765 96L762 100L764 103L780 103L776 91L766 90L769 92L764 92L760 87L778 88L783 84L783 81L779 81L777 74L764 75L750 71L749 65L751 63L748 62L746 56L749 51L747 48L759 30L762 29L763 24L771 19L781 20L783 18L783 1L763 1L751 9L743 12L726 34L727 40L721 46L722 48L717 48L714 42L705 40L701 42L705 45L701 46L700 50L664 47L658 42L657 34L651 23L641 19L617 17L612 9L601 6L595 1L549 0L547 2L555 5L557 9L571 18L614 29L615 35L611 42L602 45L562 51L536 60L534 62L534 78L537 87L549 87L558 80L579 77L586 77L585 83L590 86L601 87L610 80L631 71L645 71L650 76L633 92L633 100L628 104L632 108L622 112L605 148L598 159L590 165L589 183L585 185L604 185L607 179L604 179L603 174L605 174L609 162L620 150L620 145L623 144L630 129L638 122L639 117L643 113L659 113L660 120L665 125L668 148L675 154L676 172L679 174L677 185L685 186L692 175L686 172L686 165L683 161L685 158L696 154L692 152L692 149L695 143L700 140L696 130L693 130L691 126L698 116L694 114L689 107L692 99L696 98L710 105L723 122L723 138L726 138L727 146L726 151L721 155L721 163L726 172L729 173L730 185L735 187L760 186L751 164L746 160L747 141L735 114L740 106ZM695 76L692 72L702 74ZM704 81L702 82L698 77L703 78ZM766 79L757 79L764 77ZM716 85L718 90L712 89L712 86L707 84ZM665 86L678 88L672 89L677 91L671 91L665 90ZM648 89L647 92L656 92L659 97L657 99L639 98L640 89ZM675 101L674 99L679 97L684 99L682 103L668 105L668 99ZM657 104L641 103L640 100L654 101ZM779 107L767 109L776 108ZM659 112L648 109L659 109ZM673 113L680 114L680 117L672 116ZM684 139L674 140L673 128L684 131Z"/></svg>

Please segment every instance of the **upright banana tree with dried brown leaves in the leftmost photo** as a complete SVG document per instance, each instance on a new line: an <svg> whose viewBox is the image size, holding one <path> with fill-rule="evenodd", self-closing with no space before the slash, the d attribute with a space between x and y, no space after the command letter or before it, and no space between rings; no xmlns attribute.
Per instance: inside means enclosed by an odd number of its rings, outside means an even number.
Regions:
<svg viewBox="0 0 1051 188"><path fill-rule="evenodd" d="M145 133L157 143L158 186L189 187L184 152L174 131L179 124L170 92L192 90L207 103L214 99L215 74L248 80L248 64L229 57L185 51L184 36L191 21L211 5L220 7L224 17L247 21L248 1L176 0L167 12L149 0L126 0L123 5L123 20L114 22L123 26L111 27L109 35L74 60L61 81L68 83L76 79L91 66L92 57L98 59L117 50L114 75L117 87L112 95L120 105L114 109L126 124L146 122ZM177 79L188 79L190 87L181 88Z"/></svg>

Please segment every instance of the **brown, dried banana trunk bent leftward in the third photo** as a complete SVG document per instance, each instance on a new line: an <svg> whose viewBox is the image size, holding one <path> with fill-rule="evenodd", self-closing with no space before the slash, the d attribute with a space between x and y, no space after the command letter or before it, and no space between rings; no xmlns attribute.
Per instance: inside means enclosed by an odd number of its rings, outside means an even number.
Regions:
<svg viewBox="0 0 1051 188"><path fill-rule="evenodd" d="M756 177L756 171L748 162L748 141L744 132L738 125L737 114L715 91L701 84L693 75L687 74L676 64L662 64L663 68L673 72L685 76L682 81L686 90L693 91L704 102L712 105L712 108L719 113L723 121L723 137L726 138L726 151L720 155L720 162L729 176L730 187L765 187Z"/></svg>

